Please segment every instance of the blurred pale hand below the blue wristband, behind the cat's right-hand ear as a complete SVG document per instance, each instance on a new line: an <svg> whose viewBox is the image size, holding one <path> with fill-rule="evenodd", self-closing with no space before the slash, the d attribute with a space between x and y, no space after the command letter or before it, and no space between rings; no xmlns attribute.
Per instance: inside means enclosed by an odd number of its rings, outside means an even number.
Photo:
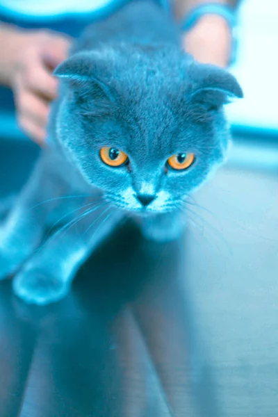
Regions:
<svg viewBox="0 0 278 417"><path fill-rule="evenodd" d="M231 29L218 15L205 15L183 37L183 47L196 60L227 67L231 55Z"/></svg>

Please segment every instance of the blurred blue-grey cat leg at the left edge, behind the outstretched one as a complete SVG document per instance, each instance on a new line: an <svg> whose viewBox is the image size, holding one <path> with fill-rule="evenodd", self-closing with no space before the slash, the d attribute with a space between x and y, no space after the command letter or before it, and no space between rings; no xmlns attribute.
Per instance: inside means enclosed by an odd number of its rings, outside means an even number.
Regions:
<svg viewBox="0 0 278 417"><path fill-rule="evenodd" d="M45 218L53 209L43 202L58 195L52 180L40 158L15 206L0 224L0 279L13 274L40 243Z"/></svg>

